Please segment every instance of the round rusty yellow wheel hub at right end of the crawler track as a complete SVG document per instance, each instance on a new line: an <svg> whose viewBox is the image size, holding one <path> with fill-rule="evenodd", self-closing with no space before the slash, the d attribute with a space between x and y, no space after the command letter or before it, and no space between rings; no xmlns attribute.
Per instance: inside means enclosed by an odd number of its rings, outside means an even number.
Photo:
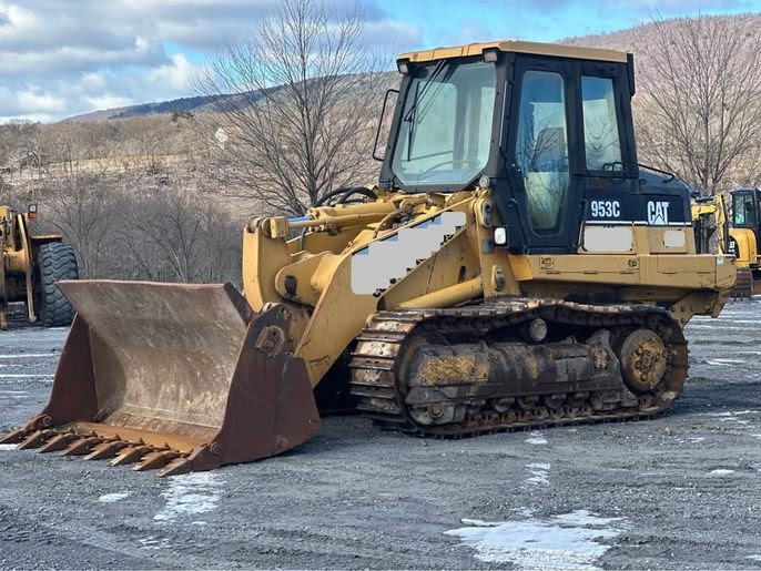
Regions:
<svg viewBox="0 0 761 571"><path fill-rule="evenodd" d="M656 332L635 329L623 338L618 354L623 380L632 392L651 392L663 379L669 357Z"/></svg>

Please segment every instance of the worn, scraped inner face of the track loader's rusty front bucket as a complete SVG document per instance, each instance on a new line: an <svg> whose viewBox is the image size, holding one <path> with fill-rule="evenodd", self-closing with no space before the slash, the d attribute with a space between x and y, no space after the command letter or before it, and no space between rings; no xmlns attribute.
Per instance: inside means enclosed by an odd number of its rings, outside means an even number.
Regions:
<svg viewBox="0 0 761 571"><path fill-rule="evenodd" d="M59 287L89 328L95 418L213 436L246 329L234 288L105 281ZM77 348L67 344L64 354Z"/></svg>

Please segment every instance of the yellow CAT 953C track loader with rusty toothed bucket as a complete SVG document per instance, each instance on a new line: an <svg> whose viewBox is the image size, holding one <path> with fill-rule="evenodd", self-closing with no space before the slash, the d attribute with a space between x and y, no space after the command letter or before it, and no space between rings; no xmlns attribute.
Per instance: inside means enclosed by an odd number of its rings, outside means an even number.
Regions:
<svg viewBox="0 0 761 571"><path fill-rule="evenodd" d="M252 220L243 295L61 283L50 404L4 441L174 475L295 447L342 391L420 436L669 407L734 258L697 254L688 190L638 166L631 57L505 41L398 69L379 183Z"/></svg>

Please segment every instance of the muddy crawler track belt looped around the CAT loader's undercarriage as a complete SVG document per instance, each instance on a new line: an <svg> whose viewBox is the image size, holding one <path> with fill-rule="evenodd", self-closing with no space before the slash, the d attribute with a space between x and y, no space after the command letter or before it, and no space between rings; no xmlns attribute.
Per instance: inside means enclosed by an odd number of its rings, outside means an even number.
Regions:
<svg viewBox="0 0 761 571"><path fill-rule="evenodd" d="M577 416L537 407L531 411L514 415L515 419L511 421L506 421L505 415L493 411L483 411L484 414L466 417L463 422L450 425L423 426L410 417L404 404L406 391L399 386L396 367L398 366L397 357L413 335L424 330L436 332L439 328L449 335L461 333L466 338L464 343L467 343L468 337L478 336L479 332L480 335L486 335L494 328L517 326L535 317L541 317L550 325L555 322L600 328L646 326L646 323L658 323L660 332L664 329L672 332L671 335L661 335L661 338L673 355L664 380L659 387L666 385L667 381L676 380L681 390L687 378L687 341L677 322L664 309L649 305L603 306L556 299L513 298L460 308L376 314L369 326L357 337L357 348L349 364L352 394L357 399L357 408L375 421L397 430L417 436L458 438L557 425L636 420L657 415L676 400L678 391L671 398L664 399L661 390L659 394L640 398L639 407L595 411L591 407L590 394L590 404L580 407L584 414ZM664 325L669 327L663 327Z"/></svg>

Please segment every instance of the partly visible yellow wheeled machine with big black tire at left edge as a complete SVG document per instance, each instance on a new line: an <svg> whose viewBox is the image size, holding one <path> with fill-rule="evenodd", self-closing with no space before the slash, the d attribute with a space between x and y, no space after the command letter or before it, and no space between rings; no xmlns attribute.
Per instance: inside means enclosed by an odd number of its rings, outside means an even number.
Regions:
<svg viewBox="0 0 761 571"><path fill-rule="evenodd" d="M32 235L30 218L37 217L37 205L27 213L0 205L0 329L8 327L8 304L23 302L27 319L45 327L71 325L74 312L55 287L59 279L77 279L74 249L58 234Z"/></svg>

